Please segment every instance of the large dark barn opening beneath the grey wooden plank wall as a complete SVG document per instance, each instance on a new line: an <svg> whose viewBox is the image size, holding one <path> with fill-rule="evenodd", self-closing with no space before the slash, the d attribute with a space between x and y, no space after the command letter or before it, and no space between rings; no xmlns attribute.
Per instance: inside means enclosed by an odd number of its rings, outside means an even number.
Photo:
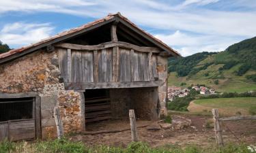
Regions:
<svg viewBox="0 0 256 153"><path fill-rule="evenodd" d="M155 120L158 116L157 104L157 87L85 90L85 123L127 120L129 109L134 109L139 119Z"/></svg>

